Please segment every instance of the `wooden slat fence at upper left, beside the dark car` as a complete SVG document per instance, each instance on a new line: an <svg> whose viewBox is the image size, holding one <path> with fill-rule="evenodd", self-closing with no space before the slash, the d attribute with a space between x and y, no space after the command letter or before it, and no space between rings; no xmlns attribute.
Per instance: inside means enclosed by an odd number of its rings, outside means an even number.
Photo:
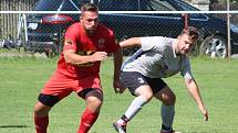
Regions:
<svg viewBox="0 0 238 133"><path fill-rule="evenodd" d="M33 11L38 0L0 0L0 11ZM0 38L15 37L19 14L0 13Z"/></svg>

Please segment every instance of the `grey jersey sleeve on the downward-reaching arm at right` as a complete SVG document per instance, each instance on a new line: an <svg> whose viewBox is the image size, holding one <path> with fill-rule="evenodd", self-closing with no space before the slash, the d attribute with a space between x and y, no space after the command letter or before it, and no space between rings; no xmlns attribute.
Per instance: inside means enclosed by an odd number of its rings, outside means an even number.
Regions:
<svg viewBox="0 0 238 133"><path fill-rule="evenodd" d="M185 59L185 62L184 62L184 65L183 65L180 75L182 75L186 80L193 79L193 75L192 75L192 70L190 70L190 63L189 63L189 59L188 59L187 57L186 57L186 59Z"/></svg>

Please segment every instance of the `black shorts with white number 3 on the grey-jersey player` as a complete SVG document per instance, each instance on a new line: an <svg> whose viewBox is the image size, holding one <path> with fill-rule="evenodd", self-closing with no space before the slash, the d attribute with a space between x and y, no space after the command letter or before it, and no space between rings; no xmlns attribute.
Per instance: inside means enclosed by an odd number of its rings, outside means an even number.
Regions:
<svg viewBox="0 0 238 133"><path fill-rule="evenodd" d="M125 84L125 87L128 88L132 95L134 95L135 90L143 85L148 85L154 95L167 86L161 78L148 78L136 71L122 71L121 80Z"/></svg>

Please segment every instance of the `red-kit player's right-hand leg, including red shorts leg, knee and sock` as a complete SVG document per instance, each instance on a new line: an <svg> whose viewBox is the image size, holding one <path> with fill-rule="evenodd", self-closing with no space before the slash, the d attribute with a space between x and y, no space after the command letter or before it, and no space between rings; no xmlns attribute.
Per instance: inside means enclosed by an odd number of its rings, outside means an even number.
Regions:
<svg viewBox="0 0 238 133"><path fill-rule="evenodd" d="M83 77L75 82L74 91L86 102L77 133L87 133L95 123L103 103L103 91L99 75Z"/></svg>

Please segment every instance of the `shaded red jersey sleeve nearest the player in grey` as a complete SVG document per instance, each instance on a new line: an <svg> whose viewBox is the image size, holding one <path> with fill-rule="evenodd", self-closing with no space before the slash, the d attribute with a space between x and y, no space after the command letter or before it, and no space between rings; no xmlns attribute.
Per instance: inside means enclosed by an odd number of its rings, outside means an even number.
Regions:
<svg viewBox="0 0 238 133"><path fill-rule="evenodd" d="M115 41L115 35L113 31L108 30L108 36L107 36L107 46L106 46L106 52L107 53L114 53L118 49L120 45Z"/></svg>

